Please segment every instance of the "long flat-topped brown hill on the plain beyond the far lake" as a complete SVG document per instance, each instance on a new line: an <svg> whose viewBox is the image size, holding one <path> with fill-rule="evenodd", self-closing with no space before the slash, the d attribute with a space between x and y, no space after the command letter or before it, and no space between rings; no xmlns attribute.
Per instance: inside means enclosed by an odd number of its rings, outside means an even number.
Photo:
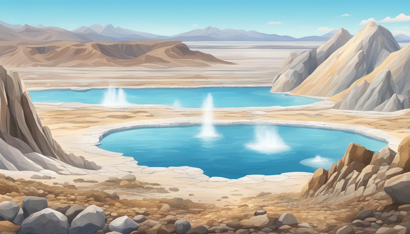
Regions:
<svg viewBox="0 0 410 234"><path fill-rule="evenodd" d="M30 30L29 27L22 30ZM57 31L53 31L55 33ZM36 35L38 32L31 32ZM43 35L43 34L41 34ZM234 64L190 50L180 41L122 41L78 43L60 41L46 45L0 45L0 63L6 66L210 66Z"/></svg>

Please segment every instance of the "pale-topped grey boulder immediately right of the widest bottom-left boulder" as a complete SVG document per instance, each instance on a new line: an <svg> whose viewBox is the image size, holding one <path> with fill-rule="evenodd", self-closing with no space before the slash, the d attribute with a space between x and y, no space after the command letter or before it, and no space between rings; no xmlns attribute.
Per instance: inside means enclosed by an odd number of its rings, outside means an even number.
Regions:
<svg viewBox="0 0 410 234"><path fill-rule="evenodd" d="M91 205L80 212L71 222L69 234L93 234L105 226L105 212Z"/></svg>

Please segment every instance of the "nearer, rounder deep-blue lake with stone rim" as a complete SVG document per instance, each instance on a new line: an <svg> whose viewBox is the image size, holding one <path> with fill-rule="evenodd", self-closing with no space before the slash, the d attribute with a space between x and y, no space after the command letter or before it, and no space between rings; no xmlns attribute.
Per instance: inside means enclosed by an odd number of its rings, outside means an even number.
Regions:
<svg viewBox="0 0 410 234"><path fill-rule="evenodd" d="M210 139L200 136L202 130L201 125L125 130L105 136L99 147L134 157L139 165L191 166L210 177L237 179L329 169L351 142L374 151L387 145L360 134L309 127L217 125L218 136Z"/></svg>

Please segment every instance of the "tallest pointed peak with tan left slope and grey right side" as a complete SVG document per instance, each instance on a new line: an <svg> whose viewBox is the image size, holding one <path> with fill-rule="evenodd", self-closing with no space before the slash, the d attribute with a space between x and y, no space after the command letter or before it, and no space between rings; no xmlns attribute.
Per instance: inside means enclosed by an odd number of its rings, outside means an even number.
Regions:
<svg viewBox="0 0 410 234"><path fill-rule="evenodd" d="M400 46L392 33L371 22L333 52L300 86L290 93L333 96L371 73L390 53L397 50L400 50Z"/></svg>

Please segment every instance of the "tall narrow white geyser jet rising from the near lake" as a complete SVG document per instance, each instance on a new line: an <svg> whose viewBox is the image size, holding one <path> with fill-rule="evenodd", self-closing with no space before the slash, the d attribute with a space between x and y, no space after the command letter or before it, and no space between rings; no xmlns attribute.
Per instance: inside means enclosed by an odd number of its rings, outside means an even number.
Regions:
<svg viewBox="0 0 410 234"><path fill-rule="evenodd" d="M214 127L214 98L211 93L208 93L205 100L202 103L203 110L203 123L201 126L201 132L197 137L202 139L215 139L220 135L216 132Z"/></svg>

